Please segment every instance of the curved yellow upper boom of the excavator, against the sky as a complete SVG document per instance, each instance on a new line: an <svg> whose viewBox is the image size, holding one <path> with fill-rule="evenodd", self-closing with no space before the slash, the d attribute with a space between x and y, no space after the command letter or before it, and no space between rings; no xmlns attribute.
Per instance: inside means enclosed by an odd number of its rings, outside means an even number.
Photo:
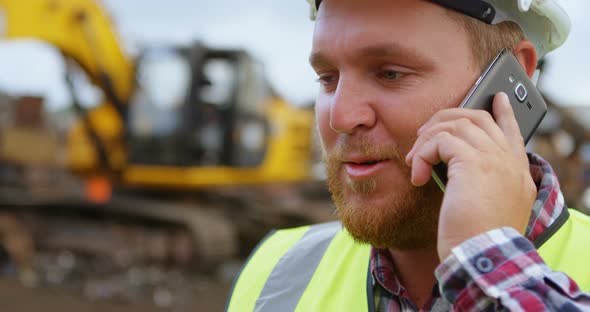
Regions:
<svg viewBox="0 0 590 312"><path fill-rule="evenodd" d="M6 38L32 38L76 61L120 113L134 88L133 64L94 0L0 0Z"/></svg>

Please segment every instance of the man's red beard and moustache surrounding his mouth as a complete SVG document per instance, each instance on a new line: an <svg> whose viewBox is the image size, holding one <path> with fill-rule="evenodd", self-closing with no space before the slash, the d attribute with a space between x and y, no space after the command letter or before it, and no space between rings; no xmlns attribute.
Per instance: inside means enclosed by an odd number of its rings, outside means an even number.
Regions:
<svg viewBox="0 0 590 312"><path fill-rule="evenodd" d="M371 159L388 159L394 162L407 183L383 191L379 178L350 180L344 176L344 157L350 152ZM339 141L325 156L328 188L336 212L351 236L378 248L400 250L425 248L436 245L438 215L442 192L432 181L424 187L410 183L410 168L396 146L374 145L366 138L347 137ZM398 184L399 185L399 184ZM352 201L356 196L360 200ZM371 203L381 196L379 204Z"/></svg>

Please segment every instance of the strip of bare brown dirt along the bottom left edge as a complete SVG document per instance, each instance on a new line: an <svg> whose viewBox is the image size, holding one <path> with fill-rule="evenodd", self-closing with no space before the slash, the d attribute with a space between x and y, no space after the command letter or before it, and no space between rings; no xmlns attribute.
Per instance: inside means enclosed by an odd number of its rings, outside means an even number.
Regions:
<svg viewBox="0 0 590 312"><path fill-rule="evenodd" d="M208 282L195 289L190 302L173 308L160 308L152 302L137 304L112 301L90 301L65 292L46 288L26 288L17 281L0 279L2 311L88 311L88 312L152 312L152 311L223 311L231 285Z"/></svg>

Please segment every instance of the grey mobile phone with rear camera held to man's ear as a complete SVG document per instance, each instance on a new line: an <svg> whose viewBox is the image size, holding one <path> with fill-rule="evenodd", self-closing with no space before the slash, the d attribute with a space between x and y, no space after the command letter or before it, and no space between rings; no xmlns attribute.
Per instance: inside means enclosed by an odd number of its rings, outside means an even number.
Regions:
<svg viewBox="0 0 590 312"><path fill-rule="evenodd" d="M508 95L526 144L545 117L547 104L514 54L507 49L502 50L483 71L460 107L484 109L491 114L492 102L498 92ZM447 165L442 162L435 165L432 178L444 192Z"/></svg>

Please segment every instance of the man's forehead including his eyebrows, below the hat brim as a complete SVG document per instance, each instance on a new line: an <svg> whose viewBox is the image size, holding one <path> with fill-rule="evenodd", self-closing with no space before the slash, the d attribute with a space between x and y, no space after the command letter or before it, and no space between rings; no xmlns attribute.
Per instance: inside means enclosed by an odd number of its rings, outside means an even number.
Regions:
<svg viewBox="0 0 590 312"><path fill-rule="evenodd" d="M314 31L310 64L370 62L378 57L415 69L456 57L469 44L449 11L425 0L324 0ZM324 6L325 5L325 6ZM453 42L453 45L449 45Z"/></svg>

